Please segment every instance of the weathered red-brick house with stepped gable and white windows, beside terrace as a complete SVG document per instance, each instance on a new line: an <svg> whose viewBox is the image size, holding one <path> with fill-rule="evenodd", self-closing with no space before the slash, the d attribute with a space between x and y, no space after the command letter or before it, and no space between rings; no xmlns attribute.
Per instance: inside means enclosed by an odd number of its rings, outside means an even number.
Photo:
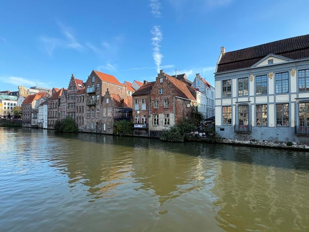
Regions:
<svg viewBox="0 0 309 232"><path fill-rule="evenodd" d="M163 70L160 70L155 82L144 83L132 96L134 127L145 128L146 124L149 136L158 137L164 129L191 117L197 101L196 91L188 84ZM145 136L145 131L137 130L134 129L135 135Z"/></svg>

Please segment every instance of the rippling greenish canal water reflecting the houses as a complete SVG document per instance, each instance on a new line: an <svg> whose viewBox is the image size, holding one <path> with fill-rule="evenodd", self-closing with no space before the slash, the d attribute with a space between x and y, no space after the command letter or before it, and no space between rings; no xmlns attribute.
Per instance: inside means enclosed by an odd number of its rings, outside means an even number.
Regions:
<svg viewBox="0 0 309 232"><path fill-rule="evenodd" d="M309 153L0 127L0 231L309 231Z"/></svg>

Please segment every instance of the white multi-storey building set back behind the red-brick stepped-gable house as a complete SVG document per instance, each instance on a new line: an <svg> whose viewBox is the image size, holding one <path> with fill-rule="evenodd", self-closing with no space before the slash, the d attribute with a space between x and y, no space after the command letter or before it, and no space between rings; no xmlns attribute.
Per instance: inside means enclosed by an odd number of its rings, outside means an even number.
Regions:
<svg viewBox="0 0 309 232"><path fill-rule="evenodd" d="M191 85L193 88L197 88L201 94L197 96L198 111L201 112L203 118L210 118L214 116L215 112L215 88L199 73L195 75L195 79Z"/></svg>

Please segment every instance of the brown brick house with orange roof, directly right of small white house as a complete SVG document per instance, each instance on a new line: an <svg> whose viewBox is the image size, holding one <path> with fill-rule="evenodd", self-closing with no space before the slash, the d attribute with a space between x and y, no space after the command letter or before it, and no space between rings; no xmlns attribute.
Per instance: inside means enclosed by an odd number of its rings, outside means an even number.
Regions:
<svg viewBox="0 0 309 232"><path fill-rule="evenodd" d="M47 99L47 128L53 129L55 122L60 120L60 98L63 88L55 92Z"/></svg>

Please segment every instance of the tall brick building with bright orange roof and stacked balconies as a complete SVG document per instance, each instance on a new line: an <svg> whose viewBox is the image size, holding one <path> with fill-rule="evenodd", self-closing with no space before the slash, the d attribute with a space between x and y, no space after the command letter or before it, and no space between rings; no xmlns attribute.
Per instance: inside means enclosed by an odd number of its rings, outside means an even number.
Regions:
<svg viewBox="0 0 309 232"><path fill-rule="evenodd" d="M99 132L101 128L100 116L102 115L102 101L107 89L110 93L118 94L121 99L127 99L127 86L121 84L115 76L93 70L89 75L86 83L86 96L83 103L85 109L84 127L83 131Z"/></svg>

